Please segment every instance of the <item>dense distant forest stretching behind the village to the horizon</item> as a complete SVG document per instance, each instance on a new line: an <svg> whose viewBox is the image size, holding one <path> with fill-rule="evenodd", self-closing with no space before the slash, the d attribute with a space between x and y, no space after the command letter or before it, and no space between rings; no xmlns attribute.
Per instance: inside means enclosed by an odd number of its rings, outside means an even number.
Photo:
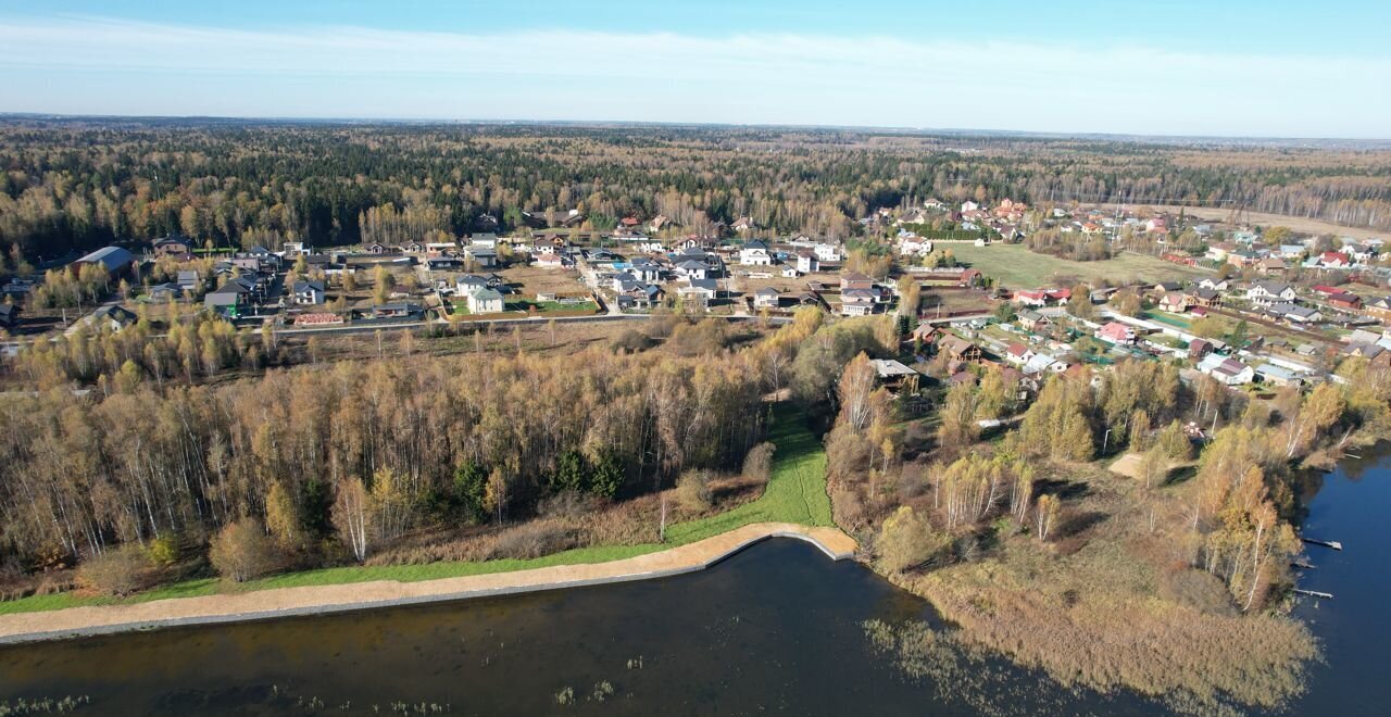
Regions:
<svg viewBox="0 0 1391 717"><path fill-rule="evenodd" d="M853 235L926 197L1189 203L1391 228L1391 153L772 128L135 120L0 122L0 250L24 268L184 232L217 246L467 232L579 207L606 229L751 215ZM389 208L388 208L389 207ZM383 221L383 218L387 221ZM3 267L0 267L3 268Z"/></svg>

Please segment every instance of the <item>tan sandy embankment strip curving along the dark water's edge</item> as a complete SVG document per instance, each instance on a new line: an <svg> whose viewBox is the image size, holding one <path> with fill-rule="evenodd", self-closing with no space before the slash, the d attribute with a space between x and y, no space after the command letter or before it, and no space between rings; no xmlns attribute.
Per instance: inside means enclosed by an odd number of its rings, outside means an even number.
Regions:
<svg viewBox="0 0 1391 717"><path fill-rule="evenodd" d="M832 560L849 560L854 557L857 547L854 539L839 528L755 522L694 543L606 563L551 566L419 582L370 581L273 588L245 593L171 598L146 603L15 613L0 616L0 645L402 607L666 578L705 570L751 545L772 538L791 538L811 543Z"/></svg>

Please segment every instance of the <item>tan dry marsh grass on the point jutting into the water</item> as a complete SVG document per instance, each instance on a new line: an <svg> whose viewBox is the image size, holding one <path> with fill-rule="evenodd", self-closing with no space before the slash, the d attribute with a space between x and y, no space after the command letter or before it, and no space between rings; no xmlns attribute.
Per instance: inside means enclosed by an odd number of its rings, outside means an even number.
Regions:
<svg viewBox="0 0 1391 717"><path fill-rule="evenodd" d="M1132 482L1077 472L1086 491L1068 511L1093 517L1075 534L1053 543L1002 535L974 561L893 579L960 627L957 642L1064 685L1129 688L1205 710L1274 709L1302 693L1305 666L1319 656L1302 623L1238 613L1214 578L1187 567L1174 536L1139 528ZM1174 506L1193 489L1164 488Z"/></svg>

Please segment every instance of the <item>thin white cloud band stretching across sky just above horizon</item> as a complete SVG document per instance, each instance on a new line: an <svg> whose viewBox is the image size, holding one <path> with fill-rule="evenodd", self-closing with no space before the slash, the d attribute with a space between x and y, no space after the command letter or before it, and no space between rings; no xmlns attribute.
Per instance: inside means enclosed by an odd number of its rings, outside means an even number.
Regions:
<svg viewBox="0 0 1391 717"><path fill-rule="evenodd" d="M1388 58L1185 53L1081 42L359 26L245 31L71 17L0 19L0 68L21 89L0 96L0 110L285 115L281 107L289 104L321 117L1391 135L1384 120L1391 115L1391 93L1377 92L1391 76ZM171 86L164 97L143 86L161 74L199 82ZM104 94L86 92L97 86L89 79L97 75L110 89ZM351 101L338 96L344 85L355 89ZM238 110L225 92L246 86L256 92L242 97ZM90 104L86 110L79 99L64 96L78 89ZM487 92L488 101L456 97L469 92ZM287 103L291 94L299 101ZM145 111L129 106L136 100Z"/></svg>

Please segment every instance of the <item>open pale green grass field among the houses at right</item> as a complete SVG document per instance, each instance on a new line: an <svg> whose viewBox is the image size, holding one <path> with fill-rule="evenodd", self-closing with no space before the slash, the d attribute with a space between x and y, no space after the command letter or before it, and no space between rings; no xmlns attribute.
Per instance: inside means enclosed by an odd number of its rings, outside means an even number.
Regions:
<svg viewBox="0 0 1391 717"><path fill-rule="evenodd" d="M1106 261L1071 261L1029 252L1022 245L951 245L950 249L958 261L981 270L1007 289L1066 286L1078 281L1157 283L1210 275L1200 268L1141 254L1121 254Z"/></svg>

